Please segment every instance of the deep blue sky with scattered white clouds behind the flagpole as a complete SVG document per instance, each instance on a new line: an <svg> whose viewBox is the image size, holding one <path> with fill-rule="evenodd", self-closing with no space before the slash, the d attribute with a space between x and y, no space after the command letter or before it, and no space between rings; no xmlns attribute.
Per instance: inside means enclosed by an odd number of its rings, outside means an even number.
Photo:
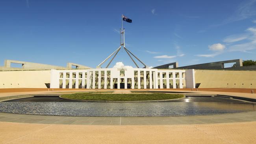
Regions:
<svg viewBox="0 0 256 144"><path fill-rule="evenodd" d="M1 0L0 63L96 67L120 45L121 14L148 66L256 59L256 0ZM124 50L119 61L135 67Z"/></svg>

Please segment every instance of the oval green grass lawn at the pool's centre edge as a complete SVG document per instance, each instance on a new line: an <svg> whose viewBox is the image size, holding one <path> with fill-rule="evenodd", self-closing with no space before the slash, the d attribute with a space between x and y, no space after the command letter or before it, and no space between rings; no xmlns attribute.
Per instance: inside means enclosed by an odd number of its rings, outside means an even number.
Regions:
<svg viewBox="0 0 256 144"><path fill-rule="evenodd" d="M113 100L113 101L136 101L136 100L167 100L182 98L183 94L95 94L80 92L75 94L62 94L62 98L79 99L79 100Z"/></svg>

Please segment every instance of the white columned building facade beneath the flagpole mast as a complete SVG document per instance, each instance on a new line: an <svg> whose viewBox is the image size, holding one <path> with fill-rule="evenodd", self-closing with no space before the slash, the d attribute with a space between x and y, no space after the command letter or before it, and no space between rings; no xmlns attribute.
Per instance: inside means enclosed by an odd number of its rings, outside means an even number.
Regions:
<svg viewBox="0 0 256 144"><path fill-rule="evenodd" d="M96 68L51 70L50 88L182 89L195 88L194 69Z"/></svg>

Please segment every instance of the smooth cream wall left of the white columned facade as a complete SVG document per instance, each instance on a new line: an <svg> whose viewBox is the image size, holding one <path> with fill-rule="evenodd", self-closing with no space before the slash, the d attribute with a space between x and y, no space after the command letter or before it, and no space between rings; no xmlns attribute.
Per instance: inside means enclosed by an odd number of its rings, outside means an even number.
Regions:
<svg viewBox="0 0 256 144"><path fill-rule="evenodd" d="M0 71L1 88L47 88L50 70Z"/></svg>

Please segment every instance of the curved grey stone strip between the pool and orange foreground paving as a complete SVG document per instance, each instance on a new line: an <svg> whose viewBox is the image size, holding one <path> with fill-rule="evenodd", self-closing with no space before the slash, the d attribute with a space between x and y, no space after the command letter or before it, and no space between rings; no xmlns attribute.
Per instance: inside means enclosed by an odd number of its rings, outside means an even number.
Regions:
<svg viewBox="0 0 256 144"><path fill-rule="evenodd" d="M0 122L73 125L173 125L215 124L256 121L256 111L233 114L201 116L162 117L86 117L86 116L43 116L30 114L0 113Z"/></svg>

